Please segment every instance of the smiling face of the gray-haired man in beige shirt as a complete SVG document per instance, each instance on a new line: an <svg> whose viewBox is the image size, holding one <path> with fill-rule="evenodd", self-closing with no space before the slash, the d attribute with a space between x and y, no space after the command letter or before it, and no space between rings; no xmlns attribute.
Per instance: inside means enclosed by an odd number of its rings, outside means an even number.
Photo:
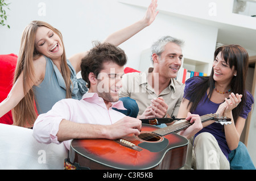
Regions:
<svg viewBox="0 0 256 181"><path fill-rule="evenodd" d="M160 56L153 55L154 69L158 69L159 76L176 78L183 57L181 47L175 43L167 43Z"/></svg>

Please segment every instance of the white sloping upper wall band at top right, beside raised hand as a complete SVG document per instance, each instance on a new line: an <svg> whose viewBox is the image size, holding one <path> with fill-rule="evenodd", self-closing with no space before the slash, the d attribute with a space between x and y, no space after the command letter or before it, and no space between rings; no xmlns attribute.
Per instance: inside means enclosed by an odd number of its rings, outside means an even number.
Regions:
<svg viewBox="0 0 256 181"><path fill-rule="evenodd" d="M137 6L144 6L147 0L119 0ZM235 0L159 0L158 9L172 14L189 16L201 20L256 29L256 19L233 14Z"/></svg>

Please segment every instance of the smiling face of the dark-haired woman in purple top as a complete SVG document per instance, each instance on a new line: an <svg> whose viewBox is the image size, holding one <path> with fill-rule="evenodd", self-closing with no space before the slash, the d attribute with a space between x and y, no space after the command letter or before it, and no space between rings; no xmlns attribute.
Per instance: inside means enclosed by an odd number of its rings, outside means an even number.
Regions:
<svg viewBox="0 0 256 181"><path fill-rule="evenodd" d="M230 68L229 64L223 59L221 52L218 53L213 62L213 79L216 82L230 83L233 76L237 74L234 66Z"/></svg>

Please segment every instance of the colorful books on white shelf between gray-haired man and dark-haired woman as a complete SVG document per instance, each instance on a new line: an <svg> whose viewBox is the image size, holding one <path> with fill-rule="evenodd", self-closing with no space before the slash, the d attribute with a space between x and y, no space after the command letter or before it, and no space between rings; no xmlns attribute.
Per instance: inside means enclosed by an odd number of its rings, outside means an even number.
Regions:
<svg viewBox="0 0 256 181"><path fill-rule="evenodd" d="M191 71L185 68L180 68L180 70L177 73L177 81L180 81L182 83L185 83L185 81L187 81L187 79L191 78L191 77L195 77L195 76L207 76L207 73L203 73L203 72L198 72L198 71Z"/></svg>

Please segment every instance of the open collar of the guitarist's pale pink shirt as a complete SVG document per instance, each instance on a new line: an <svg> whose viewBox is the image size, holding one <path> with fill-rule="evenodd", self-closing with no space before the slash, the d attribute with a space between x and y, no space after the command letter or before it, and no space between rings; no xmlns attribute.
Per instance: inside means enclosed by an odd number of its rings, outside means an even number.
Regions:
<svg viewBox="0 0 256 181"><path fill-rule="evenodd" d="M86 102L90 103L96 103L101 107L106 108L106 104L104 100L98 96L96 92L87 92L82 96L82 100L85 100ZM118 110L126 110L126 108L123 106L123 102L121 100L118 100L117 102L112 102L112 108L117 108Z"/></svg>

